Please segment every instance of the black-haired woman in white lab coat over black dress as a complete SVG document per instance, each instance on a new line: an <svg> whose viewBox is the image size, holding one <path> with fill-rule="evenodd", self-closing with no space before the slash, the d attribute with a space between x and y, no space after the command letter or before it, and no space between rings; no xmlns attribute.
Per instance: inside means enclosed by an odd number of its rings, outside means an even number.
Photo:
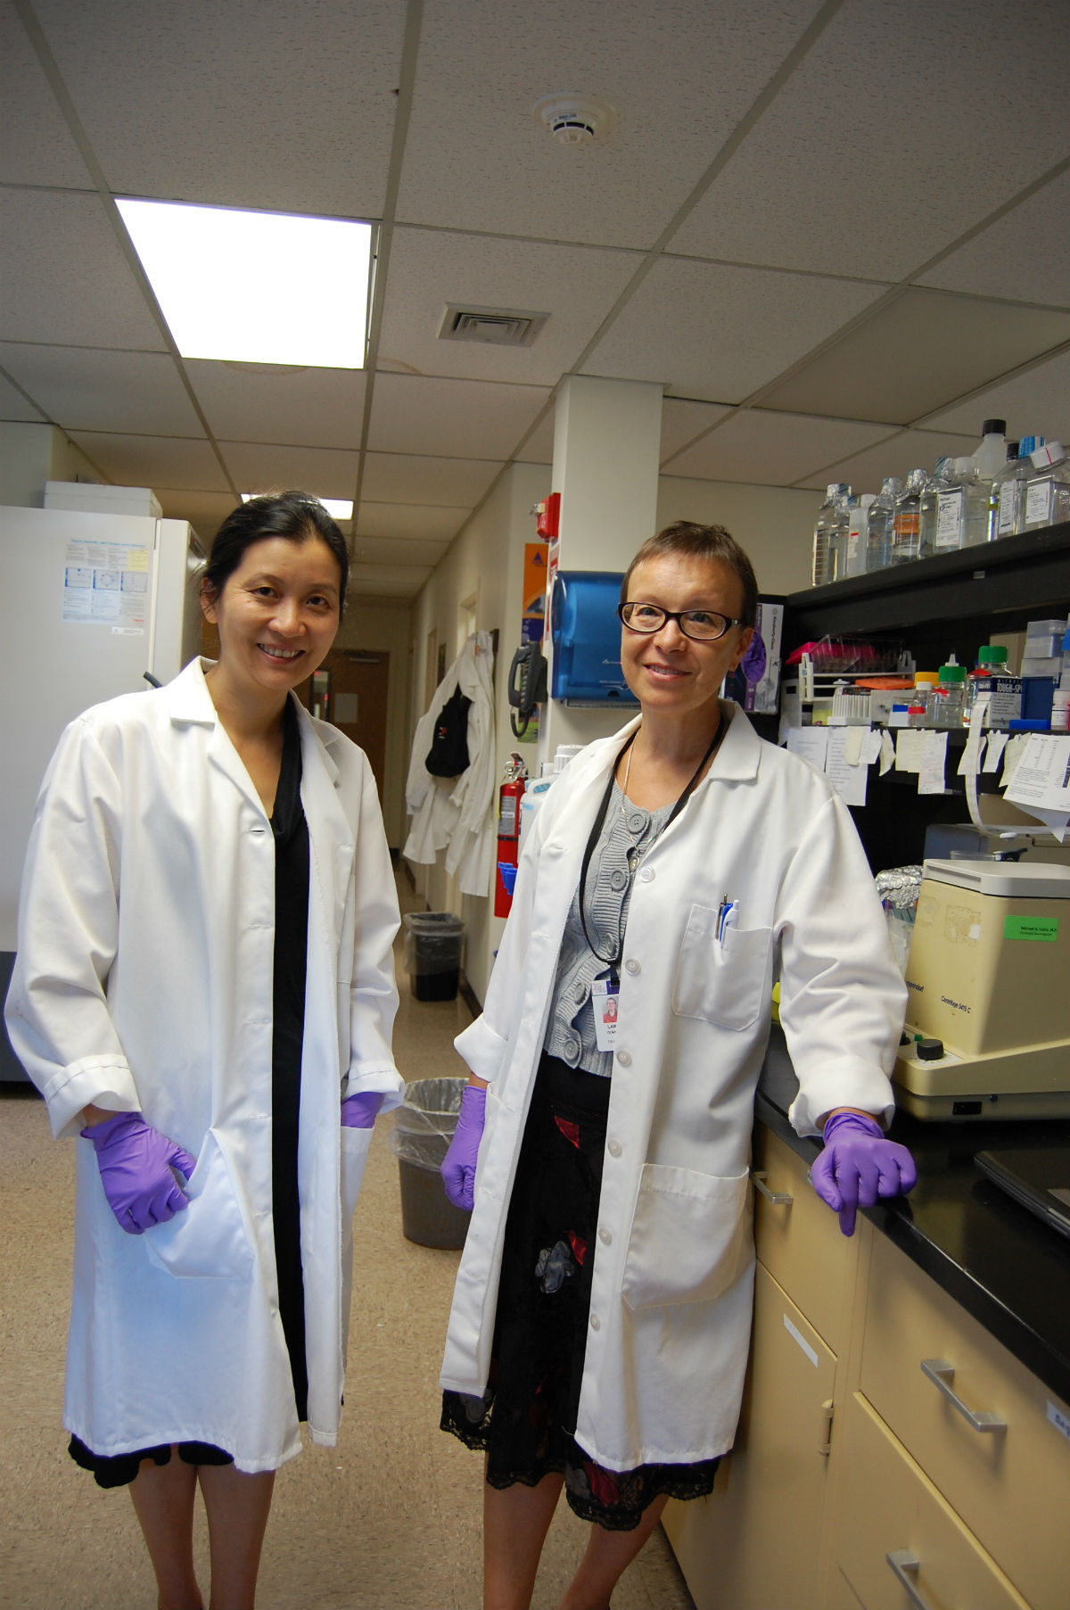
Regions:
<svg viewBox="0 0 1070 1610"><path fill-rule="evenodd" d="M251 1605L274 1472L338 1431L351 1219L396 1106L397 902L365 755L294 696L343 610L302 493L224 522L219 660L63 734L26 861L11 1042L80 1137L64 1423L130 1484L159 1605Z"/></svg>

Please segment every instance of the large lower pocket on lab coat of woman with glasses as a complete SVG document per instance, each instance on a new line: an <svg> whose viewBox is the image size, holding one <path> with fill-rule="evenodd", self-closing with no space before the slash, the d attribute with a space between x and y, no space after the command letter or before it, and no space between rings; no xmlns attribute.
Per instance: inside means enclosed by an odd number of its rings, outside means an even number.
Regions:
<svg viewBox="0 0 1070 1610"><path fill-rule="evenodd" d="M631 1309L727 1291L751 1256L747 1179L644 1164L621 1282Z"/></svg>

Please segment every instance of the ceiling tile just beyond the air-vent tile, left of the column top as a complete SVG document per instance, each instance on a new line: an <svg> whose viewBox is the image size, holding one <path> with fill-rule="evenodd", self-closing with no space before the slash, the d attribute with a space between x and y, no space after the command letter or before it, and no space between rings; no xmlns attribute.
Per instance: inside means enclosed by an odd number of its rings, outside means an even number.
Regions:
<svg viewBox="0 0 1070 1610"><path fill-rule="evenodd" d="M368 449L507 459L549 394L544 386L380 375Z"/></svg>

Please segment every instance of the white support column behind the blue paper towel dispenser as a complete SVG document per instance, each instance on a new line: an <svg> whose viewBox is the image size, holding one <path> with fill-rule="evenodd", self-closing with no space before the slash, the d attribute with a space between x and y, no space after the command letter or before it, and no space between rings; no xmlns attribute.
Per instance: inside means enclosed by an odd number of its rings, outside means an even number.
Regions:
<svg viewBox="0 0 1070 1610"><path fill-rule="evenodd" d="M570 375L554 417L554 491L562 494L558 567L626 570L653 536L658 507L661 386ZM539 758L621 726L621 710L542 710Z"/></svg>

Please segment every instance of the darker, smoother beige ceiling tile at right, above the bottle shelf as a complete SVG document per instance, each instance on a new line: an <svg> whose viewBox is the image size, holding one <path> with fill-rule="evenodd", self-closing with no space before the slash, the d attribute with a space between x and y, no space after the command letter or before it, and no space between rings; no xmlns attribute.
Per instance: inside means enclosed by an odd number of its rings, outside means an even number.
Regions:
<svg viewBox="0 0 1070 1610"><path fill-rule="evenodd" d="M1070 314L907 290L763 402L800 414L909 425L1070 340Z"/></svg>

